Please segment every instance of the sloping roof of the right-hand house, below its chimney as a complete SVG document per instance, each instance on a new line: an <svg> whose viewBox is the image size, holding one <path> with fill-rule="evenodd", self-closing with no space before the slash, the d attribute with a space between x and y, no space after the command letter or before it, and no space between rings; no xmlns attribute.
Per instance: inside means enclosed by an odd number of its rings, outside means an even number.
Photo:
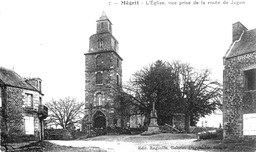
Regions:
<svg viewBox="0 0 256 152"><path fill-rule="evenodd" d="M242 54L256 51L256 29L245 31L241 40L232 42L228 48L226 58L232 58Z"/></svg>

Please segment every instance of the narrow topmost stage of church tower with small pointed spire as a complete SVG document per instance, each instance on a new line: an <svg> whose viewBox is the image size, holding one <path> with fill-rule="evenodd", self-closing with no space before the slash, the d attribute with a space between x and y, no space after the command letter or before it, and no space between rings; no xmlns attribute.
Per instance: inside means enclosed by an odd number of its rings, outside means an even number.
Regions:
<svg viewBox="0 0 256 152"><path fill-rule="evenodd" d="M106 11L103 9L102 15L97 22L97 33L106 33L109 32L112 34L112 23L106 15Z"/></svg>

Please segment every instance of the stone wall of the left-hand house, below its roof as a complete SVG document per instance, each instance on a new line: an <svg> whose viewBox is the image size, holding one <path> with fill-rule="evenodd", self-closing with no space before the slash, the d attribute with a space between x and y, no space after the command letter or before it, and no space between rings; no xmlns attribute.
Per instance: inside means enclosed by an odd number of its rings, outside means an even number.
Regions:
<svg viewBox="0 0 256 152"><path fill-rule="evenodd" d="M38 118L39 92L24 90L16 87L1 87L2 100L1 132L5 134L8 141L33 141L41 136ZM33 95L33 107L28 107L26 94ZM25 117L33 117L34 134L25 133Z"/></svg>

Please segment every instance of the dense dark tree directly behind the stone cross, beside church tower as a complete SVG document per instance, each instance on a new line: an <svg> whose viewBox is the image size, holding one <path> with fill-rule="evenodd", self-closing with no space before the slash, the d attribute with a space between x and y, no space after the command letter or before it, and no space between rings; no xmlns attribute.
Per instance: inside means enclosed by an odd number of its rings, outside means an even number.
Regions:
<svg viewBox="0 0 256 152"><path fill-rule="evenodd" d="M171 114L171 101L175 99L174 79L167 62L158 60L134 72L130 80L123 85L122 96L129 102L132 114L145 114L148 118L152 110L151 94L156 91L155 108L158 111L158 122L165 123Z"/></svg>

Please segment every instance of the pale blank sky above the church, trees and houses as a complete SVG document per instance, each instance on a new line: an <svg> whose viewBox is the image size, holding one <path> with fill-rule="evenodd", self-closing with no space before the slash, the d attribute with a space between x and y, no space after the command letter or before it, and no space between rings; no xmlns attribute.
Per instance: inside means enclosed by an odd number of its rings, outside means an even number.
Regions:
<svg viewBox="0 0 256 152"><path fill-rule="evenodd" d="M14 69L22 77L40 77L44 102L67 96L83 101L84 53L105 9L119 42L124 83L134 71L156 60L208 67L211 78L222 83L222 57L232 42L232 24L241 22L247 29L256 28L256 1L252 0L239 5L230 4L232 0L226 0L228 4L223 4L224 0L217 0L220 4L197 0L197 5L195 0L154 1L166 5L150 5L145 0L136 1L138 5L122 2L1 0L0 67ZM222 124L221 115L212 115L201 118L198 125L205 120L209 127Z"/></svg>

